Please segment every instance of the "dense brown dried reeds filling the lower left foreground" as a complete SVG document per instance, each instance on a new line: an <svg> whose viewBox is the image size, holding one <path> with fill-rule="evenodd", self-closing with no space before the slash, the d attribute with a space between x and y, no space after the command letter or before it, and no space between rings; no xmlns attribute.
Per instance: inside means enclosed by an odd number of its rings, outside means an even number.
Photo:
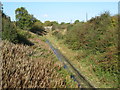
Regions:
<svg viewBox="0 0 120 90"><path fill-rule="evenodd" d="M55 71L53 61L40 59L36 62L29 58L32 52L28 46L4 42L3 88L66 87L63 78Z"/></svg>

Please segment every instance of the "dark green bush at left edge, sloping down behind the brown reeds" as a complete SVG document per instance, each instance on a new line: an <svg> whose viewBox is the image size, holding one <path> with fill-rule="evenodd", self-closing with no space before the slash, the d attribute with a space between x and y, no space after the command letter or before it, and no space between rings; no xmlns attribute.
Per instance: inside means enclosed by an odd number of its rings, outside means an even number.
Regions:
<svg viewBox="0 0 120 90"><path fill-rule="evenodd" d="M33 45L33 43L28 40L31 35L27 31L17 30L15 24L11 22L10 17L7 17L4 13L2 16L2 40L8 40L15 44Z"/></svg>

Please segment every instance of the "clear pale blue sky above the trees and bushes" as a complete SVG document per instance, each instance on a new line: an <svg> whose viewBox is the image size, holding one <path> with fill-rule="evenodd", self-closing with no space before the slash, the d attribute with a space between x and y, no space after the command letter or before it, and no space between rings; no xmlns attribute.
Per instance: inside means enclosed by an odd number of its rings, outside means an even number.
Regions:
<svg viewBox="0 0 120 90"><path fill-rule="evenodd" d="M111 15L118 14L118 2L2 2L3 11L15 20L15 9L25 7L30 14L40 21L74 22L86 21L99 16L105 11Z"/></svg>

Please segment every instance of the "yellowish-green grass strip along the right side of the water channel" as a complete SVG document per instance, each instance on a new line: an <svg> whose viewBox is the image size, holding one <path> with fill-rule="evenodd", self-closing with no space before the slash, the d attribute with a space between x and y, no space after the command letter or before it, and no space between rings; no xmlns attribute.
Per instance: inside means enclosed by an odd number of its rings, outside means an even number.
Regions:
<svg viewBox="0 0 120 90"><path fill-rule="evenodd" d="M93 67L96 67L92 59L93 57L94 59L97 59L99 55L87 55L87 52L84 50L71 50L66 44L64 44L62 39L58 40L55 36L51 34L51 32L46 36L46 38L54 45L54 47L58 48L70 60L74 67L76 67L94 87L117 87L117 76L115 77L110 75L109 73L102 72L102 70L99 67L99 70L97 71L94 71L92 69Z"/></svg>

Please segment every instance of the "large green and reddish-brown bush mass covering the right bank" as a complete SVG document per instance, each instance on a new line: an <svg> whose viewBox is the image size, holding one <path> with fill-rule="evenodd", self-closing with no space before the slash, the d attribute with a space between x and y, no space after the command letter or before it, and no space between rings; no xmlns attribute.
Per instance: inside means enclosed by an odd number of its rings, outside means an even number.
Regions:
<svg viewBox="0 0 120 90"><path fill-rule="evenodd" d="M73 50L86 50L96 55L94 60L101 70L118 73L118 29L117 19L105 12L86 23L69 26L65 35L65 43Z"/></svg>

